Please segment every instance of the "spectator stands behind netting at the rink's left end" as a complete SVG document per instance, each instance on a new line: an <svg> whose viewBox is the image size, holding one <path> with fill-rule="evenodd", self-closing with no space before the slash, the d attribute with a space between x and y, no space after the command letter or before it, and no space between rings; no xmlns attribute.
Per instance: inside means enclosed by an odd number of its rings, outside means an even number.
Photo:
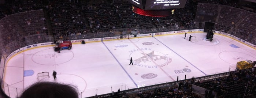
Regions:
<svg viewBox="0 0 256 98"><path fill-rule="evenodd" d="M49 41L40 5L33 0L1 5L1 52L6 55L23 46Z"/></svg>

